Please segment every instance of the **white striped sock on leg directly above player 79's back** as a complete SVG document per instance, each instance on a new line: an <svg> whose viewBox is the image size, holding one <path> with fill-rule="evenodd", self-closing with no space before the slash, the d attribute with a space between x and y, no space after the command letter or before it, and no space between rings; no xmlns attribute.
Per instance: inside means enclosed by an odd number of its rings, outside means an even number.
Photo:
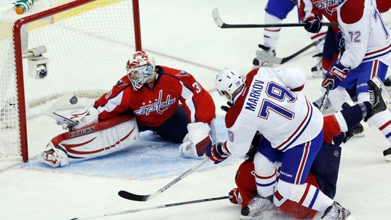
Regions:
<svg viewBox="0 0 391 220"><path fill-rule="evenodd" d="M280 24L281 19L270 15L269 13L265 14L265 24ZM263 44L265 47L275 48L277 42L279 41L281 28L279 27L268 27L263 31Z"/></svg>

